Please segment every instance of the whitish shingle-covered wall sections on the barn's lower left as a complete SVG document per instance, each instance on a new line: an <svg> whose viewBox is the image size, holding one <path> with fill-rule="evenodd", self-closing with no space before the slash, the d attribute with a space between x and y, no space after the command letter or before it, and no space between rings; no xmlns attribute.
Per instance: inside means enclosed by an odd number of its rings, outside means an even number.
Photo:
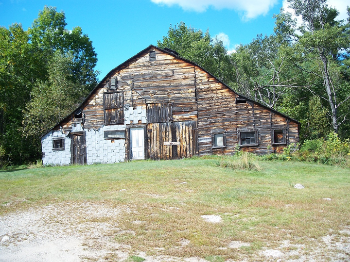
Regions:
<svg viewBox="0 0 350 262"><path fill-rule="evenodd" d="M84 129L81 124L72 126L71 131L85 131L86 133L86 149L87 149L87 164L95 163L118 163L125 159L125 139L105 139L104 131L124 131L126 124L138 123L139 120L147 123L146 109L138 106L136 109L132 107L124 109L124 124L123 125L108 125L102 126L99 129ZM53 151L53 138L64 138L64 150ZM69 131L49 131L41 138L41 148L43 155L43 164L64 165L71 163L71 139Z"/></svg>

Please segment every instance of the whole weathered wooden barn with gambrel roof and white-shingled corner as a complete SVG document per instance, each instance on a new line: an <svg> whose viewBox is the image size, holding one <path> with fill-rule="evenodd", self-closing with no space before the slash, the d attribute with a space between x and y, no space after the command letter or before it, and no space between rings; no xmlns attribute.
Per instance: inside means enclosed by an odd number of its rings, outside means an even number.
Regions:
<svg viewBox="0 0 350 262"><path fill-rule="evenodd" d="M42 136L43 164L258 154L299 140L299 123L242 97L170 49L149 46L110 71Z"/></svg>

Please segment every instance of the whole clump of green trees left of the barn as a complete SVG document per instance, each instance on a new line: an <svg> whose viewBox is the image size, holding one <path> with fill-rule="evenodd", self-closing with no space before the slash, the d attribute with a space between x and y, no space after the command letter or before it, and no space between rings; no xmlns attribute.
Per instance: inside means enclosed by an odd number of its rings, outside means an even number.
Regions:
<svg viewBox="0 0 350 262"><path fill-rule="evenodd" d="M45 6L28 31L0 27L0 165L39 158L40 135L58 121L52 115L63 117L97 83L92 42L66 26L63 12Z"/></svg>

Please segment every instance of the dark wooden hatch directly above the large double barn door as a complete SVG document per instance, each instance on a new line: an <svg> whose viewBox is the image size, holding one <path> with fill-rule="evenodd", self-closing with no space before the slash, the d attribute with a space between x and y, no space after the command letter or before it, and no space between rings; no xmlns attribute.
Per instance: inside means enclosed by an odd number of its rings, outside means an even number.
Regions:
<svg viewBox="0 0 350 262"><path fill-rule="evenodd" d="M152 103L147 104L148 123L171 122L173 116L172 103Z"/></svg>

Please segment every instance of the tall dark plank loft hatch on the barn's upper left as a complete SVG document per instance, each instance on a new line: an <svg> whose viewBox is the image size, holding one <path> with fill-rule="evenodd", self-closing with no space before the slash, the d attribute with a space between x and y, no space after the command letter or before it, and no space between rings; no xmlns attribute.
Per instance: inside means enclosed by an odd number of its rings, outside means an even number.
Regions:
<svg viewBox="0 0 350 262"><path fill-rule="evenodd" d="M104 94L105 125L124 123L123 92Z"/></svg>

